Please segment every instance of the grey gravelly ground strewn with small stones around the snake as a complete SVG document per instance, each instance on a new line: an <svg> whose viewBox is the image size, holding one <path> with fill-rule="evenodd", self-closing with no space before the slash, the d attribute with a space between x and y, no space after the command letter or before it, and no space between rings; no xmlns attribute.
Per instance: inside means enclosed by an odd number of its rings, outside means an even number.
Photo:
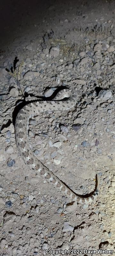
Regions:
<svg viewBox="0 0 115 256"><path fill-rule="evenodd" d="M114 1L45 3L39 18L28 5L32 22L25 8L11 7L17 20L4 26L0 55L0 253L81 249L81 255L94 256L104 254L83 249L107 249L115 255ZM33 96L53 99L60 88L77 90L78 103L66 113L33 116L30 148L78 194L94 190L98 172L100 191L92 204L68 204L62 192L27 169L16 147L19 109Z"/></svg>

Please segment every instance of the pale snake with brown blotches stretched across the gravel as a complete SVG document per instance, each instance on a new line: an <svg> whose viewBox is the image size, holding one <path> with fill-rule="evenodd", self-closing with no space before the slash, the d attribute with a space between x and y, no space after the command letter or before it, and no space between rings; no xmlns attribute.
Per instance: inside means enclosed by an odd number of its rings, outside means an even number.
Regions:
<svg viewBox="0 0 115 256"><path fill-rule="evenodd" d="M65 100L62 100L66 98ZM28 140L28 123L32 116L36 116L43 111L55 111L55 110L69 110L75 106L78 101L77 92L75 90L64 89L57 93L55 100L51 101L36 101L27 104L22 108L15 122L15 137L16 144L19 150L19 154L25 164L30 170L35 170L40 172L41 176L47 179L48 182L52 182L54 187L57 187L62 191L71 201L77 201L81 204L88 204L92 202L98 195L99 189L99 176L96 175L96 188L94 191L88 195L82 196L77 195L72 189L70 189L63 181L61 181L57 176L51 172L46 166L44 166L33 154L29 147Z"/></svg>

